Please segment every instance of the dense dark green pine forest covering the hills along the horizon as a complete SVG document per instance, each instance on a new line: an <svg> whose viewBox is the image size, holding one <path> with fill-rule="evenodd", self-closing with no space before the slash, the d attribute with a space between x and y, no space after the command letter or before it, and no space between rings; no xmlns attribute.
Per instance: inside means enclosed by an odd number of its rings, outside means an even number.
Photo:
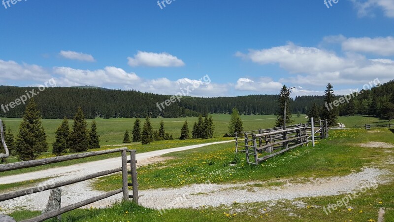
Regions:
<svg viewBox="0 0 394 222"><path fill-rule="evenodd" d="M335 87L335 86L334 86ZM14 102L26 95L34 87L0 86L0 105ZM381 116L392 101L394 82L388 82L365 91L350 104L339 107L340 115L370 114ZM279 92L278 92L279 93ZM180 102L171 104L162 111L157 103L169 99L168 95L142 93L134 90L110 90L97 87L54 87L47 88L34 96L43 118L72 118L75 110L81 107L86 118L140 117L185 117L206 113L231 113L236 107L240 114L275 114L278 109L278 95L250 95L238 97L200 98L183 97ZM308 113L312 105L323 107L323 96L300 96L291 101L292 113ZM349 106L350 109L349 109ZM0 117L21 118L26 105L16 106L10 111L0 110ZM354 109L352 108L354 107ZM354 110L354 112L353 112Z"/></svg>

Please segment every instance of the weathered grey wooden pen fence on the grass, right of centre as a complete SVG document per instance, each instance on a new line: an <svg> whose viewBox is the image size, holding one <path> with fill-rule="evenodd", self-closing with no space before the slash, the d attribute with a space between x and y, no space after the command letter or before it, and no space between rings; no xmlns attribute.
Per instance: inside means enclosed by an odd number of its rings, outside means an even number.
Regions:
<svg viewBox="0 0 394 222"><path fill-rule="evenodd" d="M239 135L243 135L243 140ZM245 152L246 162L259 164L260 162L284 153L290 149L308 144L311 140L315 146L317 139L328 138L327 120L319 120L310 124L297 124L283 127L260 129L257 131L243 132L235 135L236 152ZM244 150L238 150L244 144ZM265 153L266 155L259 154Z"/></svg>

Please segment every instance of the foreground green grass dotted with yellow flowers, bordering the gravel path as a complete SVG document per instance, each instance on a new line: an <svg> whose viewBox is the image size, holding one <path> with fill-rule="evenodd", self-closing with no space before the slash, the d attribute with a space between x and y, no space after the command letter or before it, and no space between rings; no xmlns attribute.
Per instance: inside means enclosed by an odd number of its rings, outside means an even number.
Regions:
<svg viewBox="0 0 394 222"><path fill-rule="evenodd" d="M234 158L233 148L215 145L183 152L169 153L175 159L138 169L140 188L158 188L203 183L239 183L253 181L270 182L281 185L279 180L288 179L293 183L305 183L310 178L349 175L359 172L362 167L386 169L394 173L393 164L384 162L393 158L392 152L383 148L363 148L360 143L379 141L394 144L394 134L390 130L369 132L361 129L330 131L328 140L318 142L315 148L296 148L258 166L249 166L244 156L236 166L227 163ZM208 164L208 162L211 164ZM212 164L212 162L214 162ZM224 164L226 163L226 164ZM187 167L195 166L193 172ZM189 168L190 169L190 168ZM118 175L98 180L95 187L108 190L121 183ZM367 222L377 221L379 208L394 208L393 176L386 178L388 183L370 189L353 199L349 207L338 207L326 215L323 207L336 203L344 195L296 198L305 203L296 206L294 201L280 200L258 203L232 203L230 206L200 207L197 209L173 209L161 215L157 210L136 206L132 203L118 203L107 209L79 209L63 215L64 222ZM105 187L105 188L103 188ZM256 195L259 195L256 193ZM28 210L11 214L23 220L39 215L40 212ZM388 210L386 221L394 221L393 210Z"/></svg>

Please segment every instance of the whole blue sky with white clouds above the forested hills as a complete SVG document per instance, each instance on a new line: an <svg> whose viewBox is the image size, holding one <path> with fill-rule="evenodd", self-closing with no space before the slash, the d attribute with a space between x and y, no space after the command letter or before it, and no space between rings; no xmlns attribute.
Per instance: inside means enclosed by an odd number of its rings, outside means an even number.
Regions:
<svg viewBox="0 0 394 222"><path fill-rule="evenodd" d="M294 97L394 79L394 0L0 3L0 85Z"/></svg>

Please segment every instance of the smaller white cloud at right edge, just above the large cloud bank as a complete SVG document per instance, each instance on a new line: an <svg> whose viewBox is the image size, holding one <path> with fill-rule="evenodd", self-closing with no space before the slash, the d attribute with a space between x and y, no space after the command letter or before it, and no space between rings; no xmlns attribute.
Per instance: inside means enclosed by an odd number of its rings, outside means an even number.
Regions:
<svg viewBox="0 0 394 222"><path fill-rule="evenodd" d="M342 49L345 51L391 56L394 55L394 37L348 38L342 42Z"/></svg>

